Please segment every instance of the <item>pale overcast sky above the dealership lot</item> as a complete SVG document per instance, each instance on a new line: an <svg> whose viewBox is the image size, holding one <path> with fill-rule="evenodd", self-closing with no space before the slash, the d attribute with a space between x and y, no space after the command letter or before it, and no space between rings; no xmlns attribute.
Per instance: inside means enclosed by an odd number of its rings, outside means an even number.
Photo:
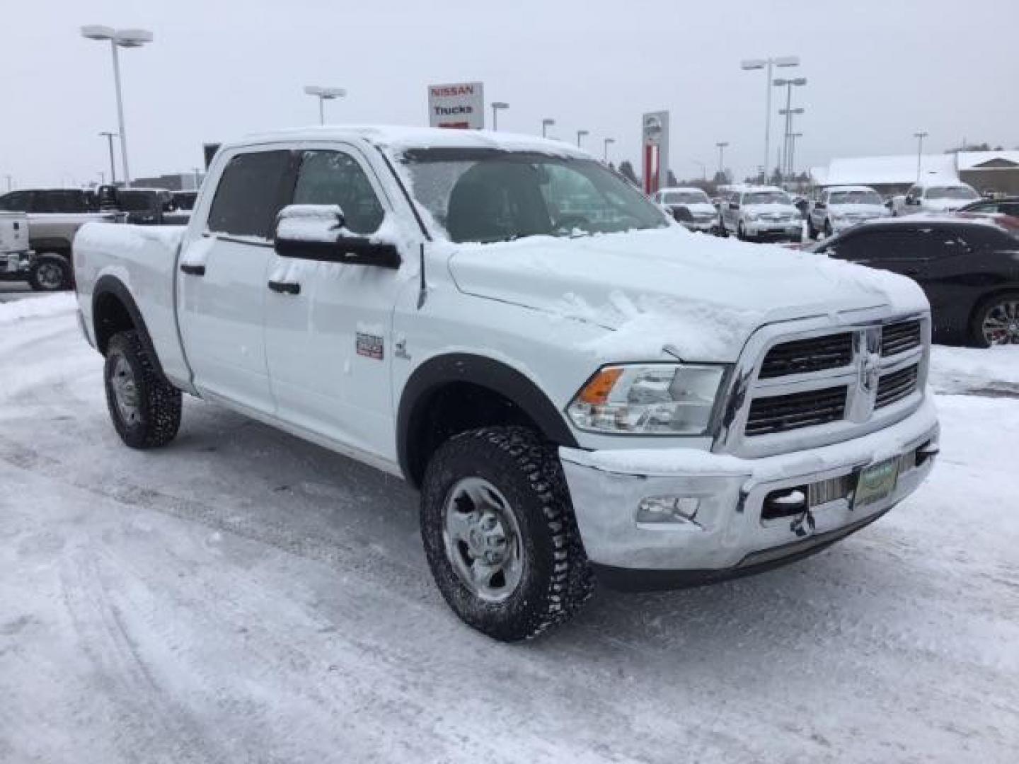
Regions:
<svg viewBox="0 0 1019 764"><path fill-rule="evenodd" d="M636 164L640 115L667 109L677 175L710 175L728 141L742 177L762 159L764 74L740 61L790 54L809 79L800 167L911 153L918 128L934 151L1019 147L1017 0L7 0L3 18L4 190L7 174L24 187L107 169L110 53L79 37L88 23L155 35L121 55L135 176L189 171L203 142L317 122L305 85L347 90L328 121L427 124L428 84L480 79L511 105L500 129L553 117L559 138L588 129L599 156L614 138L611 157Z"/></svg>

